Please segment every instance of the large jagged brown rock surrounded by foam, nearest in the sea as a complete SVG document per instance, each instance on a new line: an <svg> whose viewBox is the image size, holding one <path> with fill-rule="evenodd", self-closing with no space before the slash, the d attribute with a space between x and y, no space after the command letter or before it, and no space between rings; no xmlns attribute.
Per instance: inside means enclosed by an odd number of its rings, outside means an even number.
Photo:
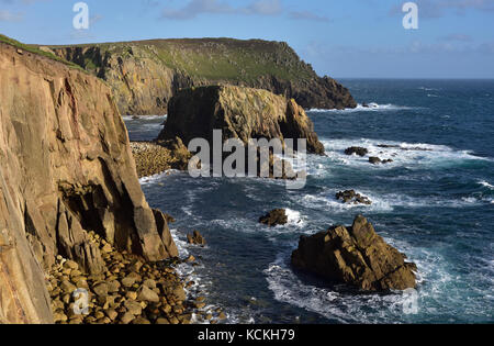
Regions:
<svg viewBox="0 0 494 346"><path fill-rule="evenodd" d="M292 254L295 268L364 291L405 290L416 287L414 264L379 236L363 216L351 227L302 236Z"/></svg>

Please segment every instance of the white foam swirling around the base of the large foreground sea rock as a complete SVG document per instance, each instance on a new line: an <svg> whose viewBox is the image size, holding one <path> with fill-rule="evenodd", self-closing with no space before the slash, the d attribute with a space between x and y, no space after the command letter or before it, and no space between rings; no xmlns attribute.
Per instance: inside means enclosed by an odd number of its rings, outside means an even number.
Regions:
<svg viewBox="0 0 494 346"><path fill-rule="evenodd" d="M429 253L389 238L385 241L408 254L409 260L418 267L416 274L418 313L426 311L429 315L440 316L442 312L431 306L444 306L445 300L450 301L448 305L461 306L462 292L450 290L457 278L449 274L447 263L437 252ZM414 315L404 313L404 306L409 298L406 292L384 295L355 294L348 292L348 288L343 284L314 286L296 276L288 265L287 258L290 258L290 254L279 254L277 260L263 271L269 289L280 302L340 323L405 323L414 319Z"/></svg>

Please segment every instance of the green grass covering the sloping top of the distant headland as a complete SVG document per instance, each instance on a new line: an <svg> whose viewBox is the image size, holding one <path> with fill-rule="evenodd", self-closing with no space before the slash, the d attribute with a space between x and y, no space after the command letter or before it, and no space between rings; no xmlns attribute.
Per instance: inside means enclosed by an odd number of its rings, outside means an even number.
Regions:
<svg viewBox="0 0 494 346"><path fill-rule="evenodd" d="M64 47L70 46L53 48ZM274 76L281 80L297 81L316 77L310 65L303 63L288 44L280 42L183 38L87 44L77 47L99 47L101 55L109 52L122 57L128 57L132 49L136 57L143 55L171 69L207 80L254 82L262 76ZM93 67L86 64L85 67Z"/></svg>

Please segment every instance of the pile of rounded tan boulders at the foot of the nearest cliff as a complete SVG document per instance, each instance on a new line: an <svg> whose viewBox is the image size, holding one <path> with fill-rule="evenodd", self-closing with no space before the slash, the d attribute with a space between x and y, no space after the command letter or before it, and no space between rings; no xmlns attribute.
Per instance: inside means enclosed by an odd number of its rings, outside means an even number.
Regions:
<svg viewBox="0 0 494 346"><path fill-rule="evenodd" d="M93 232L89 238L101 249L105 269L87 275L72 260L57 257L47 275L54 319L59 324L189 324L199 321L204 298L189 300L184 282L169 263L146 263L126 252L116 252ZM191 286L192 283L188 283ZM218 322L225 315L211 315Z"/></svg>

